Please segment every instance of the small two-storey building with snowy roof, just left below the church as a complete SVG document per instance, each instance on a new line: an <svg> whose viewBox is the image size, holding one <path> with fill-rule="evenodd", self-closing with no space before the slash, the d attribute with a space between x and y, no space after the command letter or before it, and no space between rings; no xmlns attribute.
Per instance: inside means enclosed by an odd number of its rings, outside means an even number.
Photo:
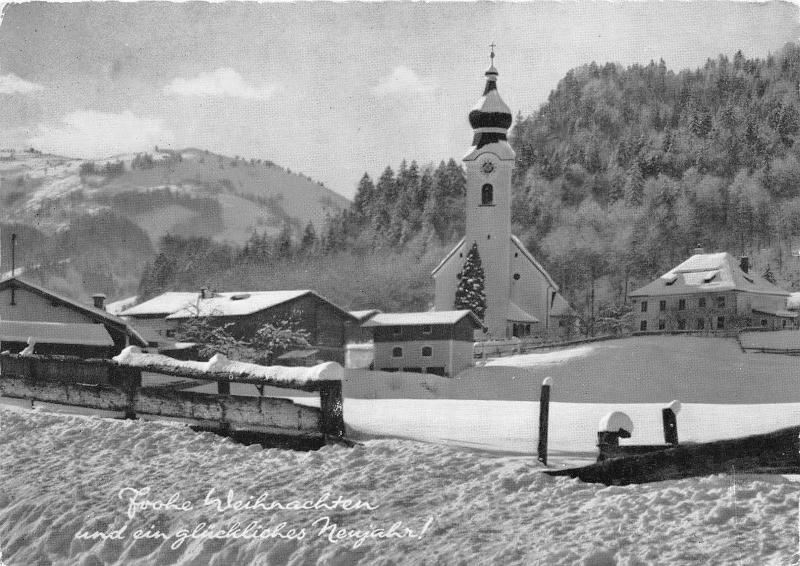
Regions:
<svg viewBox="0 0 800 566"><path fill-rule="evenodd" d="M454 376L472 367L472 336L483 325L472 311L376 314L362 326L375 340L375 369Z"/></svg>

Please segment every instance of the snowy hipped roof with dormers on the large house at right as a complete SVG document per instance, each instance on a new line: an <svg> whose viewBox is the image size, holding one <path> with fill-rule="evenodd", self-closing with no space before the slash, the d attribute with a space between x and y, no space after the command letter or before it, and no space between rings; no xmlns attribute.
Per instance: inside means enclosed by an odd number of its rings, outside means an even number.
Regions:
<svg viewBox="0 0 800 566"><path fill-rule="evenodd" d="M763 277L745 273L727 252L694 254L655 281L636 289L628 296L685 295L716 291L745 291L760 295L788 297L789 292Z"/></svg>

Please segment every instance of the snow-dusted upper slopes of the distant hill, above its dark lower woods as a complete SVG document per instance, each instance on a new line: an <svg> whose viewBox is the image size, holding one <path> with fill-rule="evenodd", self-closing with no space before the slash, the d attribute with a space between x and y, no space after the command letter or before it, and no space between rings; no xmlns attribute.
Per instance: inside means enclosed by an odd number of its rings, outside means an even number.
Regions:
<svg viewBox="0 0 800 566"><path fill-rule="evenodd" d="M148 203L154 191L168 192L172 202ZM299 234L347 205L322 184L270 161L198 149L98 161L3 152L0 202L0 222L46 233L64 229L73 217L111 210L138 224L154 244L165 233L242 244L254 230L277 234L284 223ZM213 222L198 222L204 217Z"/></svg>

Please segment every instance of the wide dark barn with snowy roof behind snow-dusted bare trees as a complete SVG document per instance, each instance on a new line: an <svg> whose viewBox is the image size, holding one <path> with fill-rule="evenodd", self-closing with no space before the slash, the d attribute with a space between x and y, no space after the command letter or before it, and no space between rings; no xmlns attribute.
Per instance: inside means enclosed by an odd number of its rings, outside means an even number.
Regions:
<svg viewBox="0 0 800 566"><path fill-rule="evenodd" d="M310 334L316 358L339 363L344 363L351 328L358 326L358 320L347 311L309 290L168 292L126 309L120 316L165 338L174 337L181 323L208 317L218 324L233 323L231 333L245 339L252 338L268 322L295 317L300 328Z"/></svg>

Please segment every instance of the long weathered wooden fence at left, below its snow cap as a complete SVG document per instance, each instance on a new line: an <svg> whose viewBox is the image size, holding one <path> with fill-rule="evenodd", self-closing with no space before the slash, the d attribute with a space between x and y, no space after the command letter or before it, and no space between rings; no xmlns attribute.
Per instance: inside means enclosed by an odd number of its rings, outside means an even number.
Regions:
<svg viewBox="0 0 800 566"><path fill-rule="evenodd" d="M181 384L142 386L142 372L189 378ZM168 381L168 380L164 380ZM217 393L184 391L207 382ZM320 407L290 399L231 395L231 383L319 392ZM64 356L0 355L0 395L120 413L168 417L198 428L277 445L313 447L345 434L342 383L285 382L171 366L131 367L112 360Z"/></svg>

